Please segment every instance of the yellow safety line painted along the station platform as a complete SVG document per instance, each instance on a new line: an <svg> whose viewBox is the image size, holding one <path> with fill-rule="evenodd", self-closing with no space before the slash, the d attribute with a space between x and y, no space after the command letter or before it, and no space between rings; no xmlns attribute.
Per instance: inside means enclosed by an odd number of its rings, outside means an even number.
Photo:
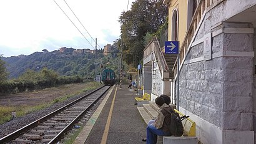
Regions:
<svg viewBox="0 0 256 144"><path fill-rule="evenodd" d="M107 117L107 123L106 123L106 127L101 139L101 144L106 144L107 143L107 135L109 134L109 127L111 126L111 117L112 117L112 112L113 112L113 108L114 108L114 103L116 100L116 92L117 92L117 87L116 87L116 91L111 103L111 109L109 110L109 116Z"/></svg>

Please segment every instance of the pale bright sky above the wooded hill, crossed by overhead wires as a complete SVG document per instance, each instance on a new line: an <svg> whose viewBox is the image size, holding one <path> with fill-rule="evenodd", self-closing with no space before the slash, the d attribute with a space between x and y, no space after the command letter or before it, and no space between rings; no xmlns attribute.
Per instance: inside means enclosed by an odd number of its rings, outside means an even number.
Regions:
<svg viewBox="0 0 256 144"><path fill-rule="evenodd" d="M103 49L119 39L119 17L122 11L130 9L133 1L135 0L1 1L0 55L30 55L41 52L42 49L51 52L61 47L95 49L96 38L99 44L97 49Z"/></svg>

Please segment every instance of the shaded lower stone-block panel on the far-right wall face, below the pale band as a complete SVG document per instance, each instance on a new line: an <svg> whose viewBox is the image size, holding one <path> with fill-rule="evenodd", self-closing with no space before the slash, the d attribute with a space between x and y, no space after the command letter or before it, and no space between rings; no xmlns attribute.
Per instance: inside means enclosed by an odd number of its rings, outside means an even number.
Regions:
<svg viewBox="0 0 256 144"><path fill-rule="evenodd" d="M224 58L224 130L252 130L252 57Z"/></svg>

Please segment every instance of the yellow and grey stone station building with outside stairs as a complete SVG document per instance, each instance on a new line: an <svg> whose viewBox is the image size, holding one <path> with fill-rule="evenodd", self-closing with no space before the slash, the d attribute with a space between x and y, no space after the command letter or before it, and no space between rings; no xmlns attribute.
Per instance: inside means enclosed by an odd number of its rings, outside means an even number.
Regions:
<svg viewBox="0 0 256 144"><path fill-rule="evenodd" d="M177 54L164 54L157 39L145 47L144 93L152 101L170 95L195 121L200 143L254 143L256 1L164 4L169 7L168 41L179 41L179 60Z"/></svg>

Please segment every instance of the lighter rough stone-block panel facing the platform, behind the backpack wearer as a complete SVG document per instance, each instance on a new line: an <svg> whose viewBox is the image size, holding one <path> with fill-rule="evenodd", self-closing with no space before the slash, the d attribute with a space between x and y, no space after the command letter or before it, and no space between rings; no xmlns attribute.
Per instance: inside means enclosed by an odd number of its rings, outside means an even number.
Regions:
<svg viewBox="0 0 256 144"><path fill-rule="evenodd" d="M223 58L195 62L184 65L180 72L180 107L217 127L222 123L222 63Z"/></svg>

